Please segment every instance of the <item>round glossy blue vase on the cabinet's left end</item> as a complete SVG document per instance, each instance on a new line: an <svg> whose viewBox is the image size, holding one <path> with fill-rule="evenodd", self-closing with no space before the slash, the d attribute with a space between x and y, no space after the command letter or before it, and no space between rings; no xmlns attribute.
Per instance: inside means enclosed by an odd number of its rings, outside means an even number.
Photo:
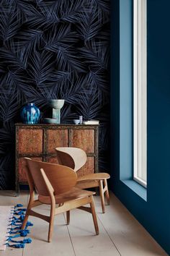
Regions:
<svg viewBox="0 0 170 256"><path fill-rule="evenodd" d="M35 103L27 103L21 109L21 118L24 124L37 124L40 118L40 109L35 106Z"/></svg>

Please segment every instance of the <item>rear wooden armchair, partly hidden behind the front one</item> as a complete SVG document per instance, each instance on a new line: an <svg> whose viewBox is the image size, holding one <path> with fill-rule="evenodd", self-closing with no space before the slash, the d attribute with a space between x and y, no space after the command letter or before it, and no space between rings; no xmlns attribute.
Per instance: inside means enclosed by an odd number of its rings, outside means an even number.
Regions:
<svg viewBox="0 0 170 256"><path fill-rule="evenodd" d="M58 157L58 163L68 166L74 171L78 171L86 163L86 153L81 148L55 148ZM76 187L87 189L91 187L99 187L100 198L102 203L102 213L105 212L104 195L109 205L109 190L107 187L107 179L109 174L101 172L96 174L86 174L78 176Z"/></svg>

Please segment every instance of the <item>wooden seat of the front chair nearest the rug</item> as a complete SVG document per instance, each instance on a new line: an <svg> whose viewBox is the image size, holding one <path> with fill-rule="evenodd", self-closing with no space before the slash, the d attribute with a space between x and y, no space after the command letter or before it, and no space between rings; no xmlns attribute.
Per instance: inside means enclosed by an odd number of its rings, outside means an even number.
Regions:
<svg viewBox="0 0 170 256"><path fill-rule="evenodd" d="M76 200L80 199L83 197L89 197L91 195L94 195L95 192L87 191L84 189L79 189L77 187L73 187L73 189L69 190L68 192L65 192L60 195L55 195L55 202L56 204L60 204L63 202L71 201L71 200ZM42 203L45 203L47 205L50 205L50 197L46 197L43 195L38 196L38 200Z"/></svg>

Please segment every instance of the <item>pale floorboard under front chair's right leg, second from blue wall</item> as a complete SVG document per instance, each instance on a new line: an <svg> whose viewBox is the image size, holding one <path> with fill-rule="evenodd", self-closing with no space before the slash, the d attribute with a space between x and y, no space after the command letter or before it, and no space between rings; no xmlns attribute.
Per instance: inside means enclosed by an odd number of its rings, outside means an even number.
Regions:
<svg viewBox="0 0 170 256"><path fill-rule="evenodd" d="M91 214L82 210L71 210L71 222L68 231L78 256L120 256L115 245L109 239L102 223L98 221L99 235L96 236Z"/></svg>

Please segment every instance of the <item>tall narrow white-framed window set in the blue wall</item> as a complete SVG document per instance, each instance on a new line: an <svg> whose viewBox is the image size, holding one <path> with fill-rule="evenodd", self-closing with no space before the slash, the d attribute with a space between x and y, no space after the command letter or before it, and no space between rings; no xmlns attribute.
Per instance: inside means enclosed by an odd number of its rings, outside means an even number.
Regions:
<svg viewBox="0 0 170 256"><path fill-rule="evenodd" d="M133 178L146 187L146 0L133 0Z"/></svg>

